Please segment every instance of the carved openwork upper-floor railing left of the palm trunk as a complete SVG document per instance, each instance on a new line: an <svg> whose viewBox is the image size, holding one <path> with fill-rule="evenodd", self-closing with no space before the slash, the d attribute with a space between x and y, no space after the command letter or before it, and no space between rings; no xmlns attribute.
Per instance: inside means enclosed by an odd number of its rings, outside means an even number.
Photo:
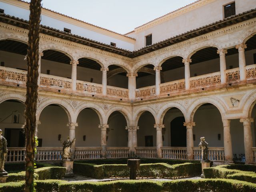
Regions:
<svg viewBox="0 0 256 192"><path fill-rule="evenodd" d="M0 79L17 84L26 84L27 71L0 66Z"/></svg>

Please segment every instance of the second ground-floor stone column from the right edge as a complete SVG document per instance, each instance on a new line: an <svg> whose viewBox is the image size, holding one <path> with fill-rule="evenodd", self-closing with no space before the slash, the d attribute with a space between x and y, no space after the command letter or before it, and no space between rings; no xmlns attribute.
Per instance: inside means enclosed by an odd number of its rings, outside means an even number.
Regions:
<svg viewBox="0 0 256 192"><path fill-rule="evenodd" d="M224 154L225 162L233 162L232 140L230 134L230 119L223 119L223 140L224 140Z"/></svg>

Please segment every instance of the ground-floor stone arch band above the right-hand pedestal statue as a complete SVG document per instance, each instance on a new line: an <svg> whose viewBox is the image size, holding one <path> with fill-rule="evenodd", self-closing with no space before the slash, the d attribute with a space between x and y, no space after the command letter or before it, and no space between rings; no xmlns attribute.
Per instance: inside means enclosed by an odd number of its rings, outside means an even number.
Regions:
<svg viewBox="0 0 256 192"><path fill-rule="evenodd" d="M224 116L226 114L226 107L225 105L222 103L221 100L219 100L218 98L210 98L210 97L204 97L204 98L199 98L197 99L195 102L193 102L191 105L190 105L190 108L188 110L188 113L187 113L187 117L185 117L186 120L189 120L190 122L193 122L194 120L194 114L195 112L197 111L197 109L203 105L203 104L206 104L206 103L210 103L210 104L213 104L220 112L220 115L221 115L221 118L224 119Z"/></svg>

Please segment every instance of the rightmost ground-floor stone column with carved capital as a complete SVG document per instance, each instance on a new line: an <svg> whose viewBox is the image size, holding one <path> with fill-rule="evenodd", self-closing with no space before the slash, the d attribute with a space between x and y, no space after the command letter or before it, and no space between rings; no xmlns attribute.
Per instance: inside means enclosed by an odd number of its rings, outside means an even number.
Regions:
<svg viewBox="0 0 256 192"><path fill-rule="evenodd" d="M249 164L253 162L253 151L252 151L252 129L251 122L253 118L242 118L240 122L244 125L244 153L245 163Z"/></svg>

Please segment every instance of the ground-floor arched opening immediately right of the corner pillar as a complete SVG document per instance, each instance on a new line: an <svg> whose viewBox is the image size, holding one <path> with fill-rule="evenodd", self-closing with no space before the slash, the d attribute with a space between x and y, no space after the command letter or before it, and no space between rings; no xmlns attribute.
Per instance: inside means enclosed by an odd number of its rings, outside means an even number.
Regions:
<svg viewBox="0 0 256 192"><path fill-rule="evenodd" d="M138 147L156 146L155 118L149 111L144 111L138 120L139 130L137 131Z"/></svg>

